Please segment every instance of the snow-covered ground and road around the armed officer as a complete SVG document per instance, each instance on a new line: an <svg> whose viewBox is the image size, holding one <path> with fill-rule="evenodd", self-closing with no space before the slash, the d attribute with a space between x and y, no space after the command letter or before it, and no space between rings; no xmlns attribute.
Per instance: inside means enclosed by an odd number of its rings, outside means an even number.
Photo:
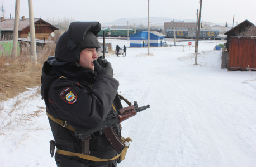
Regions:
<svg viewBox="0 0 256 167"><path fill-rule="evenodd" d="M127 40L106 42L129 47ZM184 48L150 48L154 56L145 55L148 48L127 48L126 57L106 54L118 92L151 106L122 123L122 136L134 142L118 166L256 166L256 72L222 70L221 51L212 51L216 41L200 42L197 66L194 47L189 54L188 42L177 45ZM56 166L36 91L0 104L0 129L27 120L0 130L0 166ZM22 115L28 113L36 119Z"/></svg>

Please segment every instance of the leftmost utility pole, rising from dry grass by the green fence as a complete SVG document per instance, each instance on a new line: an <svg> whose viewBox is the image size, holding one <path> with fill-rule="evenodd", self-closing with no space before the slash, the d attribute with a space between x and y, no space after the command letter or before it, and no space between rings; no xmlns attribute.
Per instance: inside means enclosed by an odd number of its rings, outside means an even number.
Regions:
<svg viewBox="0 0 256 167"><path fill-rule="evenodd" d="M12 41L12 56L17 57L17 43L18 43L18 18L20 15L20 0L16 0L15 3L15 21L13 30L13 41Z"/></svg>

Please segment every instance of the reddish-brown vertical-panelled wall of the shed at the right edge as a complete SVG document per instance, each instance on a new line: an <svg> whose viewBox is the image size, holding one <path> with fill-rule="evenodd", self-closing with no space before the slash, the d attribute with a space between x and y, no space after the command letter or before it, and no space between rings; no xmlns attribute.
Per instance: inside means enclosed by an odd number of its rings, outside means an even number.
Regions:
<svg viewBox="0 0 256 167"><path fill-rule="evenodd" d="M230 37L229 70L256 70L256 37Z"/></svg>

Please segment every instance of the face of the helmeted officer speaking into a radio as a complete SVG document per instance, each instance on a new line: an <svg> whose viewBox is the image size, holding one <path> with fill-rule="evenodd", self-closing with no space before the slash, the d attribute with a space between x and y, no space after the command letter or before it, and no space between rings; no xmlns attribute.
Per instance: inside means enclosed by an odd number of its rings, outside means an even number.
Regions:
<svg viewBox="0 0 256 167"><path fill-rule="evenodd" d="M96 48L85 48L80 53L79 65L86 69L94 70L93 61L98 58Z"/></svg>

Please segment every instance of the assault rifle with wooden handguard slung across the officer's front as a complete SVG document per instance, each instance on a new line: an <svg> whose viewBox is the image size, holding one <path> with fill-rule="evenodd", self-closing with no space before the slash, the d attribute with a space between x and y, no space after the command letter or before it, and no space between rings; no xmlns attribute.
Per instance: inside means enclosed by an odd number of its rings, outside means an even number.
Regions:
<svg viewBox="0 0 256 167"><path fill-rule="evenodd" d="M92 130L75 131L75 135L79 137L79 139L82 139L83 141L82 153L90 154L89 140L92 138L91 135L93 135L95 132L99 132L99 135L102 135L103 133L105 134L108 141L110 141L110 144L120 154L121 151L125 148L125 144L119 139L112 125L121 123L122 121L127 120L132 116L135 116L137 112L146 110L148 108L150 108L149 105L138 107L137 102L134 101L134 106L129 106L122 108L120 110L111 111L110 114L107 115L105 121L102 122L102 124L98 127Z"/></svg>

